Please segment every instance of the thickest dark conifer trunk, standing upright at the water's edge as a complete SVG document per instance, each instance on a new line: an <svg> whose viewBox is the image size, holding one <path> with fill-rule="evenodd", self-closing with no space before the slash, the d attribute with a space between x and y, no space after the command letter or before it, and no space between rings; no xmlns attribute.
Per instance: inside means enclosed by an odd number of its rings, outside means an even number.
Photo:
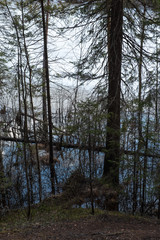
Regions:
<svg viewBox="0 0 160 240"><path fill-rule="evenodd" d="M112 187L119 184L122 24L123 0L112 0L108 28L108 119L103 172Z"/></svg>

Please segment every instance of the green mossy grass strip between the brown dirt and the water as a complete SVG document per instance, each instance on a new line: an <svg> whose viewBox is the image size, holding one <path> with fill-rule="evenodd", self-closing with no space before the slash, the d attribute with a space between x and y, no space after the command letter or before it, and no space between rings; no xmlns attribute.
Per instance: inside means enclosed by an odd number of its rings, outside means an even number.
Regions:
<svg viewBox="0 0 160 240"><path fill-rule="evenodd" d="M95 215L102 211L95 209ZM62 221L78 220L91 216L89 208L72 208L66 199L50 197L43 202L31 207L31 218L27 221L27 209L11 210L0 219L0 232L7 230L16 231L30 224L42 224Z"/></svg>

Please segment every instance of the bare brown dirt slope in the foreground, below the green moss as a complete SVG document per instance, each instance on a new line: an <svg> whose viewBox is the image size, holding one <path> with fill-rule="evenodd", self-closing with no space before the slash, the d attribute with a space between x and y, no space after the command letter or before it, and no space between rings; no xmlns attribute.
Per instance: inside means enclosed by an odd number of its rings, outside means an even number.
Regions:
<svg viewBox="0 0 160 240"><path fill-rule="evenodd" d="M160 240L160 221L102 214L79 220L30 223L1 231L0 240Z"/></svg>

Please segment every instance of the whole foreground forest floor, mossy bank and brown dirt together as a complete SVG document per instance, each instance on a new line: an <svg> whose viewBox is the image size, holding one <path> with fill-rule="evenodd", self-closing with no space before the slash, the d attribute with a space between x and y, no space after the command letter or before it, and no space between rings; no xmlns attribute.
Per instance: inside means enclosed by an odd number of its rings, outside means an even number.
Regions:
<svg viewBox="0 0 160 240"><path fill-rule="evenodd" d="M54 206L53 206L53 205ZM160 221L117 212L68 208L49 200L32 209L14 211L0 220L0 240L160 240Z"/></svg>

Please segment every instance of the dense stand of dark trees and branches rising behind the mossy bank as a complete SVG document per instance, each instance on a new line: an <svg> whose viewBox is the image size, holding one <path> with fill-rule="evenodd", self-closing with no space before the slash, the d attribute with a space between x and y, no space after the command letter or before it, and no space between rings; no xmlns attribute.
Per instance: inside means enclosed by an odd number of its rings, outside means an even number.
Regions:
<svg viewBox="0 0 160 240"><path fill-rule="evenodd" d="M0 213L160 218L160 1L0 1Z"/></svg>

